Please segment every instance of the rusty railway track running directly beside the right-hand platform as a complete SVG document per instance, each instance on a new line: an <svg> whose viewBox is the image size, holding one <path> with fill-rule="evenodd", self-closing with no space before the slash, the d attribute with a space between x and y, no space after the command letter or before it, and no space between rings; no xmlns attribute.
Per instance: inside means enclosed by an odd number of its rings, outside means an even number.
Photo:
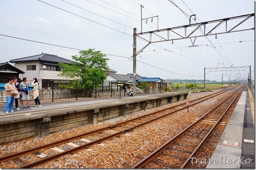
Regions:
<svg viewBox="0 0 256 170"><path fill-rule="evenodd" d="M187 168L244 87L208 111L131 168ZM213 123L214 122L214 123ZM150 162L150 163L149 163ZM152 167L153 166L153 167Z"/></svg>

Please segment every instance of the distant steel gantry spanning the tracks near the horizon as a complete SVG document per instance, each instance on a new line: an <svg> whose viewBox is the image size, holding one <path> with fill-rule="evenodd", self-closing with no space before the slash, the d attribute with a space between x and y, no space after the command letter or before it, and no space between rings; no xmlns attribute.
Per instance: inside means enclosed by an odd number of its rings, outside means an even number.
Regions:
<svg viewBox="0 0 256 170"><path fill-rule="evenodd" d="M246 71L246 69L250 69L249 72ZM251 87L251 66L248 67L221 67L221 68L204 68L204 88L206 88L206 71L208 71L207 73L211 72L211 71L245 71L248 73L248 86ZM240 73L237 73L237 75L239 75ZM222 76L222 82L223 82L223 76Z"/></svg>

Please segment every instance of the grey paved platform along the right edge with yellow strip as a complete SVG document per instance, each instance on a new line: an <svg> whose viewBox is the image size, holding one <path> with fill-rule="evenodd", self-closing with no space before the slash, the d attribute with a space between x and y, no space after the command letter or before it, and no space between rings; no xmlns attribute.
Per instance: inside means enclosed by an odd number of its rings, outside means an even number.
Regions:
<svg viewBox="0 0 256 170"><path fill-rule="evenodd" d="M206 168L254 169L254 138L254 92L247 89L242 92Z"/></svg>

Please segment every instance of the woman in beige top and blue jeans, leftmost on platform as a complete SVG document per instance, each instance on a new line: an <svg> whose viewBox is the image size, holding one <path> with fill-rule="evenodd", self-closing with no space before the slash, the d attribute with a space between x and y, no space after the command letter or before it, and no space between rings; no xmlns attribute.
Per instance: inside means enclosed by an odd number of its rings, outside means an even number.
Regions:
<svg viewBox="0 0 256 170"><path fill-rule="evenodd" d="M4 90L6 91L6 104L4 107L4 113L6 113L6 114L9 114L9 111L14 112L13 111L14 94L12 94L13 93L12 91L17 90L17 88L15 87L15 84L14 84L14 78L9 77L8 80L9 80L9 82L4 85Z"/></svg>

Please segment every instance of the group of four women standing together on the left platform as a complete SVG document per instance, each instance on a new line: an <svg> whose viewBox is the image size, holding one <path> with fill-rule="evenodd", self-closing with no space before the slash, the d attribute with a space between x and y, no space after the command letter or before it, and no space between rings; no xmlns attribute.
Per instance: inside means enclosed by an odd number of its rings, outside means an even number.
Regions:
<svg viewBox="0 0 256 170"><path fill-rule="evenodd" d="M29 106L29 91L28 87L33 86L32 91L32 98L35 100L35 105L33 107L41 107L40 100L39 100L39 90L38 90L38 81L37 78L33 78L33 83L30 84L27 77L24 77L21 82L17 82L17 77L9 77L8 83L4 85L4 90L6 91L6 105L4 107L4 113L9 114L14 112L14 100L15 100L15 107L16 110L19 110L19 99L22 100L23 109L30 109ZM18 96L14 96L12 94L12 90L18 91ZM27 100L27 107L25 106L25 100Z"/></svg>

